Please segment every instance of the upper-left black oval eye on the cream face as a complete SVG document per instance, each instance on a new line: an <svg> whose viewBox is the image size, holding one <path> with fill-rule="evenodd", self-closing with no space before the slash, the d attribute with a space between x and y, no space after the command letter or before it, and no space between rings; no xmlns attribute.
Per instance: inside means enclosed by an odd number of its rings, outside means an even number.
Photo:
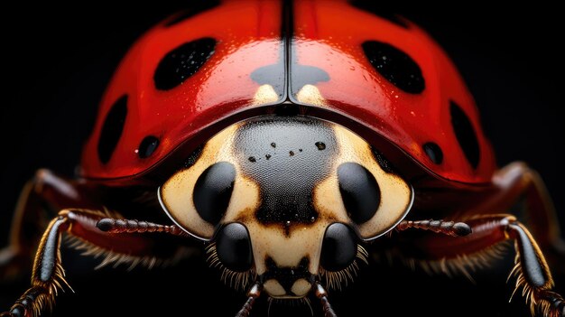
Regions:
<svg viewBox="0 0 565 317"><path fill-rule="evenodd" d="M236 181L236 168L218 162L206 169L194 185L194 207L205 221L217 225L227 210Z"/></svg>

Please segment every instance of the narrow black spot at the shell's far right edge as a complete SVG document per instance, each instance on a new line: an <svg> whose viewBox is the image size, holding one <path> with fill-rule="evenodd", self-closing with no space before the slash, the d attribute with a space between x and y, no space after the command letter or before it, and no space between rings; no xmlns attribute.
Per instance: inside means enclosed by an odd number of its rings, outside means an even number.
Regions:
<svg viewBox="0 0 565 317"><path fill-rule="evenodd" d="M478 147L477 133L471 124L471 120L454 101L450 101L449 111L451 112L451 125L459 145L465 157L467 157L468 163L473 168L477 168L480 148Z"/></svg>

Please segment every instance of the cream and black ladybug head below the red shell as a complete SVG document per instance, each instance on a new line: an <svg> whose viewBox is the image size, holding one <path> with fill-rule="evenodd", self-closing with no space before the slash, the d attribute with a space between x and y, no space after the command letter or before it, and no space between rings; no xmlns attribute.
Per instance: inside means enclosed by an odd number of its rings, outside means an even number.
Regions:
<svg viewBox="0 0 565 317"><path fill-rule="evenodd" d="M312 117L264 116L213 136L162 184L166 210L210 242L209 260L241 286L300 298L365 260L359 244L382 236L412 206L412 188L370 145Z"/></svg>

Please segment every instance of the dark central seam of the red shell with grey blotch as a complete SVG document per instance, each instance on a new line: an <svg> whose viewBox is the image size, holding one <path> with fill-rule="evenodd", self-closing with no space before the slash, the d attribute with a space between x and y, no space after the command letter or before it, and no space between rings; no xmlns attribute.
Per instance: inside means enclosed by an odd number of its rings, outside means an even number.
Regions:
<svg viewBox="0 0 565 317"><path fill-rule="evenodd" d="M251 73L259 85L269 84L278 94L281 101L292 101L305 85L315 85L321 81L329 81L329 74L316 66L301 65L296 53L294 39L294 12L291 0L282 1L281 51L279 61L261 67Z"/></svg>

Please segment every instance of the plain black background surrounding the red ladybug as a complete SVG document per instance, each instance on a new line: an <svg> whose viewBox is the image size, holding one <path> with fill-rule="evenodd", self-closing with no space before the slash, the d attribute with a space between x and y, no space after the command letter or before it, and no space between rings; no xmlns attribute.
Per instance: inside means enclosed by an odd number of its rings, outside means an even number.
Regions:
<svg viewBox="0 0 565 317"><path fill-rule="evenodd" d="M185 7L163 0L123 7L88 1L12 5L0 19L0 245L5 245L17 194L36 169L72 175L97 102L129 45L153 23ZM565 228L560 10L542 2L500 8L477 2L400 2L393 9L419 23L449 52L477 99L498 163L523 160L541 172ZM91 273L92 263L78 265L68 250L63 256L69 266L80 267L69 270L77 294L60 296L56 315L199 315L197 306L233 315L244 302L199 258L146 274L142 269L125 273L124 268ZM371 266L347 292L331 298L342 316L364 310L383 314L384 306L400 315L527 315L520 294L507 303L513 288L505 284L510 267L506 261L471 284ZM557 277L563 292L565 279ZM24 285L0 283L0 311ZM265 303L259 304L256 315L266 315ZM305 307L297 310L310 315ZM288 311L273 304L271 315Z"/></svg>

